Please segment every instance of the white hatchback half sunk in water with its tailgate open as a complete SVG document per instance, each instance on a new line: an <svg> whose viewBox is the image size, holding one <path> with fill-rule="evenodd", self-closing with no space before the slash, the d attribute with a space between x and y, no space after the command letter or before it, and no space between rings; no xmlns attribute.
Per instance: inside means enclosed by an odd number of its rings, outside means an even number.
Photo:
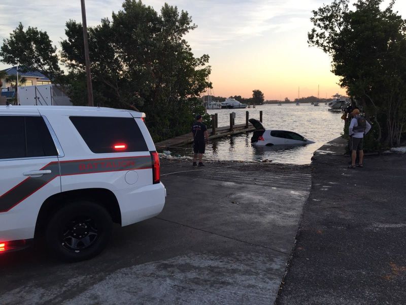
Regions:
<svg viewBox="0 0 406 305"><path fill-rule="evenodd" d="M314 143L314 141L308 140L293 131L269 130L265 129L259 120L250 118L249 121L255 127L251 137L251 144L253 145L273 146Z"/></svg>

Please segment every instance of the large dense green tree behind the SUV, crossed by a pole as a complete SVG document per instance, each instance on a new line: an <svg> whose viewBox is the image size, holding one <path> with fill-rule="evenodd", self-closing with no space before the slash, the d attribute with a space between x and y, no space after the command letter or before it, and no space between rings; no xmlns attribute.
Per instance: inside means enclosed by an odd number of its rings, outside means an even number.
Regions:
<svg viewBox="0 0 406 305"><path fill-rule="evenodd" d="M196 25L187 12L165 4L160 14L141 1L126 0L112 20L89 27L89 53L95 104L143 111L155 141L187 133L197 97L209 85L208 55L194 57L183 39ZM83 104L85 60L82 25L66 22L61 57L75 104Z"/></svg>

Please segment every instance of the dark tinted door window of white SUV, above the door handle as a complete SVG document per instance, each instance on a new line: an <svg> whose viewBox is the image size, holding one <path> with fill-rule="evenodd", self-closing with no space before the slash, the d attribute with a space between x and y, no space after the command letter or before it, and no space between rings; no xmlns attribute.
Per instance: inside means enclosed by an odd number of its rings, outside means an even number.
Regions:
<svg viewBox="0 0 406 305"><path fill-rule="evenodd" d="M0 116L0 159L57 156L41 116Z"/></svg>

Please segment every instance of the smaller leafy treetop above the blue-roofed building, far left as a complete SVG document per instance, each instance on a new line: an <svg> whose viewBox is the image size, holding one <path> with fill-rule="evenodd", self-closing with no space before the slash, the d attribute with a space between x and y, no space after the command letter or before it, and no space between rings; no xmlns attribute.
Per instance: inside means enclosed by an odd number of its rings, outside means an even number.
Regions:
<svg viewBox="0 0 406 305"><path fill-rule="evenodd" d="M21 65L21 71L24 71L24 67L40 70L53 82L59 81L63 74L58 65L56 47L52 46L47 32L30 26L24 31L21 22L10 33L10 38L3 39L0 57L2 63Z"/></svg>

